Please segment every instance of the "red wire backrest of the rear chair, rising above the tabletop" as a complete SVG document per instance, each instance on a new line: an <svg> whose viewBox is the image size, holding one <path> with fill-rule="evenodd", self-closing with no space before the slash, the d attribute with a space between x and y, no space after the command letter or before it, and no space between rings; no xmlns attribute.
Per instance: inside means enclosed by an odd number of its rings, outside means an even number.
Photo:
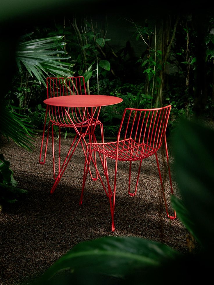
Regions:
<svg viewBox="0 0 214 285"><path fill-rule="evenodd" d="M83 76L76 77L48 77L47 98L66 95L86 94Z"/></svg>

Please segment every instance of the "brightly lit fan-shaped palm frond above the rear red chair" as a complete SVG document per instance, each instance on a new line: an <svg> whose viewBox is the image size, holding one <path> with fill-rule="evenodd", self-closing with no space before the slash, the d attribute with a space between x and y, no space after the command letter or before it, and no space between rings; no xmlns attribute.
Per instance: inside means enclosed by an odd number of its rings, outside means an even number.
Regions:
<svg viewBox="0 0 214 285"><path fill-rule="evenodd" d="M29 36L28 34L26 36ZM25 38L25 37L24 37ZM49 76L72 76L74 64L64 62L69 59L67 53L62 50L65 43L61 42L63 36L35 39L20 43L16 50L16 61L19 71L22 66L28 70L31 76L35 76L40 84L46 86L45 78Z"/></svg>

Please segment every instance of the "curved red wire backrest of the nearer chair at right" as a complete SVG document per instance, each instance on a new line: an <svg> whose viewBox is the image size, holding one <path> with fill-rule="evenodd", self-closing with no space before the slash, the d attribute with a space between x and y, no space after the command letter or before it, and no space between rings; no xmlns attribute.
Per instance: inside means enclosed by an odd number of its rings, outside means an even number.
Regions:
<svg viewBox="0 0 214 285"><path fill-rule="evenodd" d="M117 136L119 159L140 160L157 152L165 136L170 110L171 105L154 109L126 108Z"/></svg>

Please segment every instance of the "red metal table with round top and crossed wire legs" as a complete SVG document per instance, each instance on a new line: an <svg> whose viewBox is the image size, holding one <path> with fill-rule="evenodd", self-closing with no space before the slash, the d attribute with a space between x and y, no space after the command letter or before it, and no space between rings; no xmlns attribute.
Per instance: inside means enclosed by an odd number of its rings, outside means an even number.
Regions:
<svg viewBox="0 0 214 285"><path fill-rule="evenodd" d="M85 135L87 134L90 126L95 129L96 122L98 120L98 116L100 113L100 109L102 106L108 106L108 105L115 105L118 103L121 103L123 101L122 98L115 97L115 96L108 96L108 95L68 95L68 96L59 96L59 97L52 97L44 100L44 103L48 105L49 107L49 114L53 113L50 112L50 108L61 108L64 112L64 117L66 120L69 120L71 124L74 126L74 130L76 132L76 135L74 137L74 140L71 144L71 147L68 151L68 154L63 162L62 167L59 170L59 174L54 182L54 185L52 186L51 189L51 194L54 193L56 186L58 185L63 173L65 172L65 169L72 158L72 155L79 144L81 142L83 152L84 151L84 145L87 145L87 142L85 141ZM87 117L87 112L90 110L90 116L89 116L89 122L88 126L84 129L84 125L82 124L81 126L81 131L79 131L74 122L73 118L71 117L72 113L72 108L81 108L82 110L82 118L83 121L85 121L85 118ZM73 115L73 114L72 114ZM50 120L53 124L56 124L55 118L50 115ZM76 141L77 139L77 141ZM76 144L75 144L76 141ZM74 145L75 144L75 145ZM73 148L73 150L72 150ZM71 152L72 150L72 152Z"/></svg>

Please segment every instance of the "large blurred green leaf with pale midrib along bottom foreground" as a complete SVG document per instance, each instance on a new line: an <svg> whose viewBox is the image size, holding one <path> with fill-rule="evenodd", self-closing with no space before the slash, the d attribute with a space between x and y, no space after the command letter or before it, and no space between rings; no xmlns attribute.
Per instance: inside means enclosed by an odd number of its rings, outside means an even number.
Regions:
<svg viewBox="0 0 214 285"><path fill-rule="evenodd" d="M135 237L104 237L79 243L36 283L46 284L57 272L67 269L79 276L90 273L123 278L128 272L158 266L177 256L178 252L158 242Z"/></svg>

